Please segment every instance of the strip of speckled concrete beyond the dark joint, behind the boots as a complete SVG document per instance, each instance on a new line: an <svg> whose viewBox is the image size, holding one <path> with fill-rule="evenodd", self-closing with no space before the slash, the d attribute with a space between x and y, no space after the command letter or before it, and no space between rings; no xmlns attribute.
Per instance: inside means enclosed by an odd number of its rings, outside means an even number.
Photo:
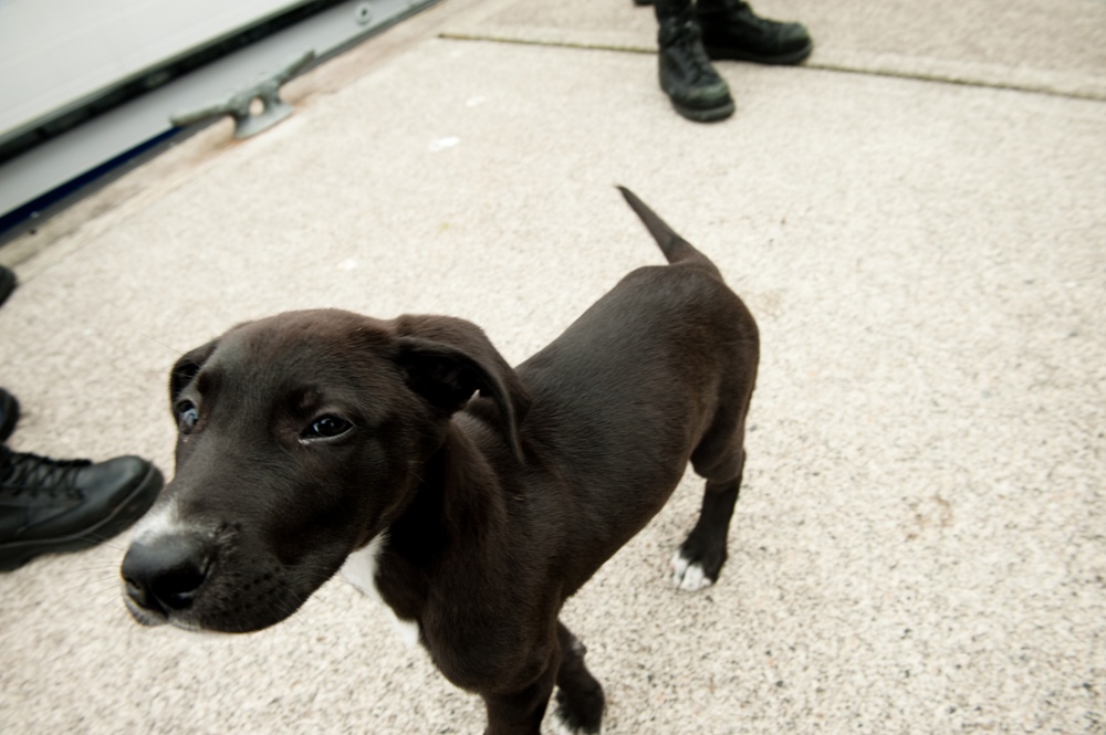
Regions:
<svg viewBox="0 0 1106 735"><path fill-rule="evenodd" d="M653 51L651 8L629 0L488 0L446 35ZM758 0L765 18L799 20L812 69L941 80L1106 99L1106 4L1100 0Z"/></svg>

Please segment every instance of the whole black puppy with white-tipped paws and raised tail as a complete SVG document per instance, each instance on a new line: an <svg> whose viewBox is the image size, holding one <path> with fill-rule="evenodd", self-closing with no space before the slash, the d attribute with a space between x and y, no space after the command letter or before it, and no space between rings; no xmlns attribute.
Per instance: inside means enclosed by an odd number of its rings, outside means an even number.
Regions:
<svg viewBox="0 0 1106 735"><path fill-rule="evenodd" d="M554 685L561 724L599 732L603 690L561 607L689 461L707 487L675 581L718 578L759 354L718 269L622 191L670 264L627 275L513 370L469 322L340 311L181 357L176 479L123 560L134 617L259 630L348 564L483 697L488 734L536 734Z"/></svg>

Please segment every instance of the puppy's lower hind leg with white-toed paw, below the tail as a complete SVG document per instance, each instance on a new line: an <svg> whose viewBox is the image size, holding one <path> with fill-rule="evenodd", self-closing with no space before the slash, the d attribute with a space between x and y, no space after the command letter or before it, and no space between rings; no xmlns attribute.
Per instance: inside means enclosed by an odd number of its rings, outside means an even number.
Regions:
<svg viewBox="0 0 1106 735"><path fill-rule="evenodd" d="M691 453L691 466L706 477L699 521L672 557L672 584L695 591L718 580L745 464L745 410L722 413Z"/></svg>

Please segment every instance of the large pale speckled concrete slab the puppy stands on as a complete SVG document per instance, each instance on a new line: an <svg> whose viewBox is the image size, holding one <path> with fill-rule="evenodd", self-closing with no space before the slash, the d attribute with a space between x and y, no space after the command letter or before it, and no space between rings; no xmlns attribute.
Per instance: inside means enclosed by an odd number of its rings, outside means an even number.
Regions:
<svg viewBox="0 0 1106 735"><path fill-rule="evenodd" d="M744 296L763 363L720 582L668 586L689 475L565 610L605 732L1104 732L1106 107L726 64L738 115L698 126L655 63L415 39L118 181L17 264L12 445L171 472L175 357L289 308L455 314L521 360L660 261L624 183ZM139 629L125 544L0 577L0 732L481 731L341 580L257 634Z"/></svg>

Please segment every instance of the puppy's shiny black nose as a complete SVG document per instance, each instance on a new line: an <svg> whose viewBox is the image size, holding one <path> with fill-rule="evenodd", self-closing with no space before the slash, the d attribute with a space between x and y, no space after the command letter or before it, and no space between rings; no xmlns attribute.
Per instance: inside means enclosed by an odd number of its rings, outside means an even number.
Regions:
<svg viewBox="0 0 1106 735"><path fill-rule="evenodd" d="M191 606L210 566L210 546L202 538L163 536L131 545L123 558L123 581L135 605L167 615Z"/></svg>

